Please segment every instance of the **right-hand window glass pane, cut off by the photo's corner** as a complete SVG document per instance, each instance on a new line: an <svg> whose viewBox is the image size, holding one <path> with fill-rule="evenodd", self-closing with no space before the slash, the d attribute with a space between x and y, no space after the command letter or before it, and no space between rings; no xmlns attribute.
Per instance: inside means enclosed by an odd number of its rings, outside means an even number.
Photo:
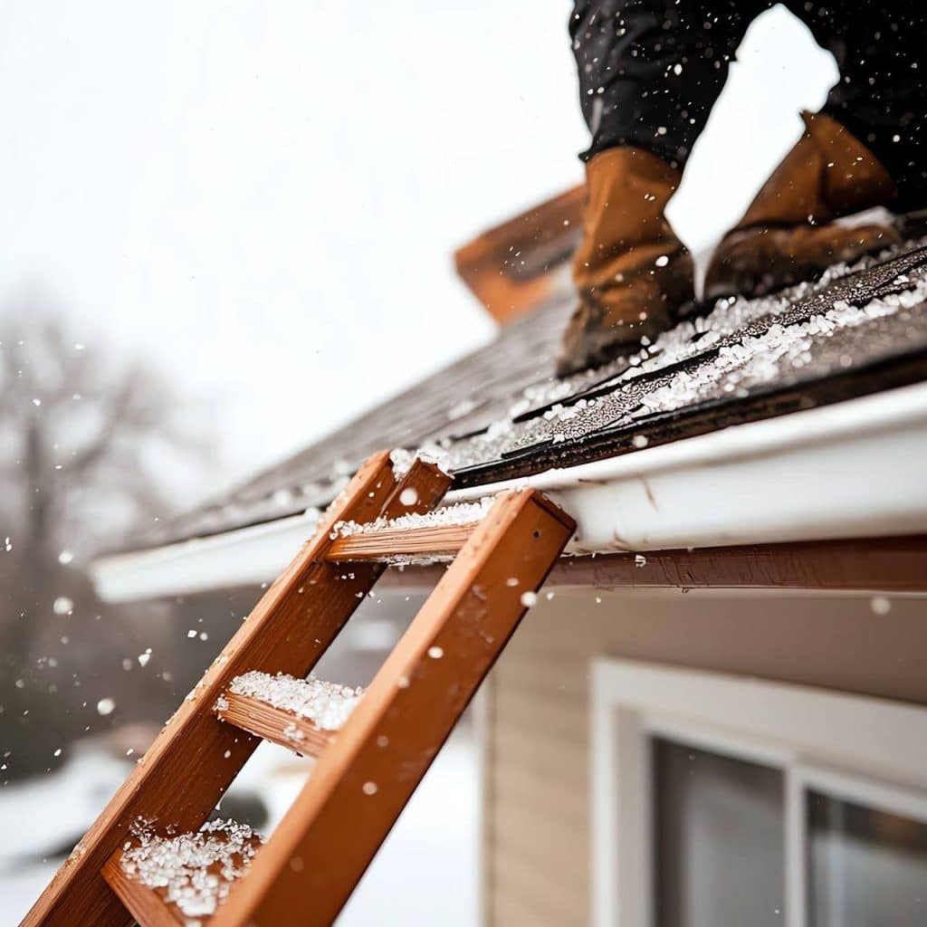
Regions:
<svg viewBox="0 0 927 927"><path fill-rule="evenodd" d="M808 793L808 927L927 924L927 825Z"/></svg>

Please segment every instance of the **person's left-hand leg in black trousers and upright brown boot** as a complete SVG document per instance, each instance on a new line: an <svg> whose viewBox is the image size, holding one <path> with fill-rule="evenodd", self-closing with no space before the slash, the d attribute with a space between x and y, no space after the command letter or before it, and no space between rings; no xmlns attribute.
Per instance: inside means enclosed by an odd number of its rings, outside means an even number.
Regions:
<svg viewBox="0 0 927 927"><path fill-rule="evenodd" d="M579 303L561 374L669 327L692 301L692 259L665 216L692 145L765 2L576 0L570 35L592 134Z"/></svg>

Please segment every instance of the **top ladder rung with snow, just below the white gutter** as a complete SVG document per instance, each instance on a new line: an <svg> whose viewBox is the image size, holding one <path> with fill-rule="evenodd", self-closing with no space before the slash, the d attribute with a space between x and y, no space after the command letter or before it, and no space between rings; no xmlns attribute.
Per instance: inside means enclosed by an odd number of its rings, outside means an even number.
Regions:
<svg viewBox="0 0 927 927"><path fill-rule="evenodd" d="M425 514L380 518L365 525L339 522L326 559L409 563L441 559L458 552L489 512L494 500L458 502Z"/></svg>

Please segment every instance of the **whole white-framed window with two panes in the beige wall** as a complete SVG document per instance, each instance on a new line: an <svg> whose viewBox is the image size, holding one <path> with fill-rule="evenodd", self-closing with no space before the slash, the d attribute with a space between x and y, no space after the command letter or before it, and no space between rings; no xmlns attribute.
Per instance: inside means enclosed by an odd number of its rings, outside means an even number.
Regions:
<svg viewBox="0 0 927 927"><path fill-rule="evenodd" d="M927 710L608 660L597 927L927 923Z"/></svg>

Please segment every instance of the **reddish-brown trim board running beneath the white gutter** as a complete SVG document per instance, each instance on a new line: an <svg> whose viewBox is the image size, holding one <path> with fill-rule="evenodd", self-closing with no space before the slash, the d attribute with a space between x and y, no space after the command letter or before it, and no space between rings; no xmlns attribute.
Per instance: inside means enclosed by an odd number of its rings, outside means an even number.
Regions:
<svg viewBox="0 0 927 927"><path fill-rule="evenodd" d="M430 589L444 565L390 569L391 589ZM927 535L563 557L545 588L927 592Z"/></svg>

